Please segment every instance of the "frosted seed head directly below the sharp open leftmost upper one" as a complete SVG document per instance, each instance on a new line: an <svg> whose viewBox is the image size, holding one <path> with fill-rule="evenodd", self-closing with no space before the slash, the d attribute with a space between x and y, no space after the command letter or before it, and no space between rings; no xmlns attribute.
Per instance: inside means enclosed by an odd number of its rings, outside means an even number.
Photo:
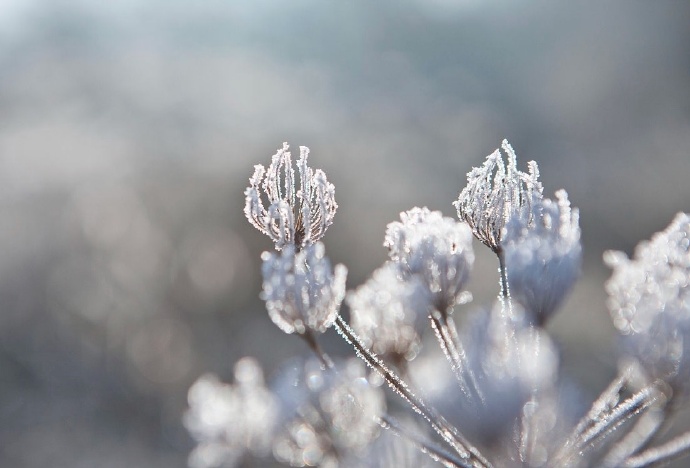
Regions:
<svg viewBox="0 0 690 468"><path fill-rule="evenodd" d="M264 252L261 258L261 298L273 323L285 333L326 331L345 296L347 268L336 265L332 271L321 242L299 252L288 245L279 253Z"/></svg>

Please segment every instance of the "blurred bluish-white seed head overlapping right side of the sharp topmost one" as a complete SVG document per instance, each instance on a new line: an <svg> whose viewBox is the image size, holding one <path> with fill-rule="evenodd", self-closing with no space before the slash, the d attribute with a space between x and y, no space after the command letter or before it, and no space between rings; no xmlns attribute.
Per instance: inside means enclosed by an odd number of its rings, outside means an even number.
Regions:
<svg viewBox="0 0 690 468"><path fill-rule="evenodd" d="M529 216L504 228L503 252L510 295L543 324L558 308L580 271L579 214L565 190L531 205Z"/></svg>

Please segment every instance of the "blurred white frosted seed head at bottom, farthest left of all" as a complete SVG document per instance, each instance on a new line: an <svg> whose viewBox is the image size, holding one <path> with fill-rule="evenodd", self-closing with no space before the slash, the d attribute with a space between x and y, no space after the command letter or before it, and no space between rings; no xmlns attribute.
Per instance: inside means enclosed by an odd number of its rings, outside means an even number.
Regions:
<svg viewBox="0 0 690 468"><path fill-rule="evenodd" d="M188 402L184 425L198 443L189 456L191 467L231 467L245 451L265 455L270 449L278 403L254 359L236 363L233 384L201 376L190 387Z"/></svg>

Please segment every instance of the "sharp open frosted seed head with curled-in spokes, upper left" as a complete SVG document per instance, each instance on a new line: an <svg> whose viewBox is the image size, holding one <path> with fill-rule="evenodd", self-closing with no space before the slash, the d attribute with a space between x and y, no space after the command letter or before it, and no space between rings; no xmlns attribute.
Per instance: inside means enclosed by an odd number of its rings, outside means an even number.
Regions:
<svg viewBox="0 0 690 468"><path fill-rule="evenodd" d="M254 227L266 234L280 250L294 245L297 250L313 244L333 223L335 211L335 189L320 169L307 166L309 148L300 146L297 161L300 187L295 186L295 170L292 167L288 144L273 155L265 169L254 166L254 174L245 190L244 214ZM264 207L263 194L268 198Z"/></svg>

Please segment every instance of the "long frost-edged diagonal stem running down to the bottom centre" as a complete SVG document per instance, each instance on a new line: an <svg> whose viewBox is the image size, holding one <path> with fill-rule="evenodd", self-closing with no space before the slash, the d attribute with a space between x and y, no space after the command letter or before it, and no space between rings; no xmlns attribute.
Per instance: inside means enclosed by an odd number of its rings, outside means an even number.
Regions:
<svg viewBox="0 0 690 468"><path fill-rule="evenodd" d="M338 314L335 320L335 329L338 333L352 345L359 358L375 370L401 398L403 398L412 409L420 414L431 427L438 433L443 440L450 445L461 458L467 459L470 466L490 467L491 464L484 458L479 451L473 447L459 432L449 424L433 408L427 406L419 397L410 391L407 384L397 375L391 372L386 365L361 342L359 337L350 328L348 323Z"/></svg>

